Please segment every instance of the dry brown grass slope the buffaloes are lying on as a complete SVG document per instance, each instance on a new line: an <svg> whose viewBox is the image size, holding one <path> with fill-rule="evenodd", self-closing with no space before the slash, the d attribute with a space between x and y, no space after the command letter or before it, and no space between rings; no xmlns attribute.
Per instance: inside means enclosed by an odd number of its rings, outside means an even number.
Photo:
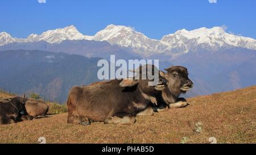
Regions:
<svg viewBox="0 0 256 155"><path fill-rule="evenodd" d="M130 126L67 124L67 114L0 126L0 143L256 143L256 86L188 99Z"/></svg>

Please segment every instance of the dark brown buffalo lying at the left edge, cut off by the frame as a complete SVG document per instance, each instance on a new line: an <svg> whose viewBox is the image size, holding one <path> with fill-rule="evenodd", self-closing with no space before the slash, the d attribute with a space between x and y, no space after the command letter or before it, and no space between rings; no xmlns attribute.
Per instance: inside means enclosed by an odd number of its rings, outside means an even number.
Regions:
<svg viewBox="0 0 256 155"><path fill-rule="evenodd" d="M22 115L26 115L25 103L27 98L14 97L9 100L0 100L0 124L17 123Z"/></svg>

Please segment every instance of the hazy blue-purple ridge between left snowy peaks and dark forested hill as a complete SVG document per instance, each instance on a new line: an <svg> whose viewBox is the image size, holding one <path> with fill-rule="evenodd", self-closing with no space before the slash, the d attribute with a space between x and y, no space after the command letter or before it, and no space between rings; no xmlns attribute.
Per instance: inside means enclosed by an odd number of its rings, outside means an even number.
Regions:
<svg viewBox="0 0 256 155"><path fill-rule="evenodd" d="M36 41L29 43L10 43L0 46L0 51L6 50L39 50L48 52L63 52L72 55L81 55L85 57L101 57L109 60L110 55L115 58L125 60L138 58L142 56L131 51L129 48L110 45L107 41L94 40L64 40L61 43L47 43L46 41Z"/></svg>

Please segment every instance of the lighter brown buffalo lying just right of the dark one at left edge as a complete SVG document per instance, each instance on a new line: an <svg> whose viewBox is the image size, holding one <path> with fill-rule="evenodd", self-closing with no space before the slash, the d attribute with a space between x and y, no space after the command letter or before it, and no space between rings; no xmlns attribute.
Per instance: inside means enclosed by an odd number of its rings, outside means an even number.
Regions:
<svg viewBox="0 0 256 155"><path fill-rule="evenodd" d="M49 110L48 104L35 99L28 99L25 107L27 114L34 118L46 115Z"/></svg>

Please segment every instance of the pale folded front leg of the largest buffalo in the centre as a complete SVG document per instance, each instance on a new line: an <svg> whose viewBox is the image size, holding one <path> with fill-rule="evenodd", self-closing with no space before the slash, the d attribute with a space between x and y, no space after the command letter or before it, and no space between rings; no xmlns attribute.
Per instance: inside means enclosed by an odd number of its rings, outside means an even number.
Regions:
<svg viewBox="0 0 256 155"><path fill-rule="evenodd" d="M115 114L114 116L104 120L104 124L131 125L134 123L135 123L135 117L127 113Z"/></svg>

